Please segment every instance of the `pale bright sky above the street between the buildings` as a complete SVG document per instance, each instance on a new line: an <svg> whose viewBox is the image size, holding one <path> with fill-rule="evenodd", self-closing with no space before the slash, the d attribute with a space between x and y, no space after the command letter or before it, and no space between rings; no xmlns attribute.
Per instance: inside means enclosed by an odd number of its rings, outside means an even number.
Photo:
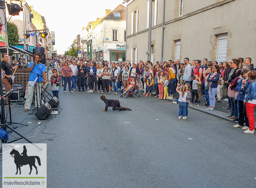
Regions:
<svg viewBox="0 0 256 188"><path fill-rule="evenodd" d="M112 11L123 0L26 0L34 11L45 17L50 31L55 32L58 54L64 54L89 21L105 16L105 9ZM126 6L126 3L122 4Z"/></svg>

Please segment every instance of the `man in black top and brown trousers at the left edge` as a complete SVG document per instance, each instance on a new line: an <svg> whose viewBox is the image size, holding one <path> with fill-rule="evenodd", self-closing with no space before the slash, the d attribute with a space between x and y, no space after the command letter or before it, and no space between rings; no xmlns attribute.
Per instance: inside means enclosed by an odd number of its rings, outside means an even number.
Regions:
<svg viewBox="0 0 256 188"><path fill-rule="evenodd" d="M2 70L5 71L5 76L4 76L4 80L2 81L3 84L5 85L5 91L6 93L8 91L10 91L13 88L13 83L10 83L10 79L12 79L12 71L14 68L19 67L18 65L15 65L14 67L11 67L10 64L8 63L9 61L9 56L8 54L2 54L2 58L3 61L1 62L1 66L2 66ZM10 105L11 107L13 107L13 104L8 104L8 97L6 97L6 102L7 105Z"/></svg>

